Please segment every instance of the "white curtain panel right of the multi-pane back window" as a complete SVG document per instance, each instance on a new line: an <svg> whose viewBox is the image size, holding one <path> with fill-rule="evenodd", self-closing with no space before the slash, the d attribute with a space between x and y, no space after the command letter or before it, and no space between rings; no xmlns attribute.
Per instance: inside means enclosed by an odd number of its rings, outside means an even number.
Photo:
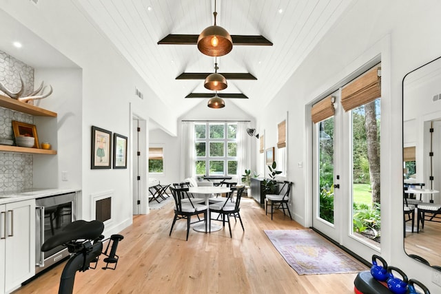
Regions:
<svg viewBox="0 0 441 294"><path fill-rule="evenodd" d="M245 169L251 167L251 137L247 134L249 122L238 122L237 124L237 176L238 182L241 182L241 175L245 174Z"/></svg>

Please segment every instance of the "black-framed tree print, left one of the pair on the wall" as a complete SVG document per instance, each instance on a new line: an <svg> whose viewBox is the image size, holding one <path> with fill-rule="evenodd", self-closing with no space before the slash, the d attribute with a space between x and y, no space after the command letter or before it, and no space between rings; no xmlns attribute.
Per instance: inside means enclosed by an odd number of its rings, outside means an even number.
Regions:
<svg viewBox="0 0 441 294"><path fill-rule="evenodd" d="M112 132L92 125L92 158L90 169L110 169Z"/></svg>

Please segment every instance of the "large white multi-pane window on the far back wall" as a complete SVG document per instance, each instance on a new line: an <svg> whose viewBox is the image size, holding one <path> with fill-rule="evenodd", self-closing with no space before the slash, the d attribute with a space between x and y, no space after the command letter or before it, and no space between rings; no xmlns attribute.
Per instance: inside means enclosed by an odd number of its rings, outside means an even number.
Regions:
<svg viewBox="0 0 441 294"><path fill-rule="evenodd" d="M196 174L237 174L237 124L195 123Z"/></svg>

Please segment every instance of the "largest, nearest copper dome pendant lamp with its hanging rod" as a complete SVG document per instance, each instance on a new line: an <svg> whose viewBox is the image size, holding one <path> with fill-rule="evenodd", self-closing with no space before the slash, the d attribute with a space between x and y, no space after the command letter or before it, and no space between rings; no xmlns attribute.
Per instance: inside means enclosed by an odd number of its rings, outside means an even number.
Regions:
<svg viewBox="0 0 441 294"><path fill-rule="evenodd" d="M198 50L208 56L223 56L233 49L232 36L216 25L216 0L214 0L214 25L205 28L198 37Z"/></svg>

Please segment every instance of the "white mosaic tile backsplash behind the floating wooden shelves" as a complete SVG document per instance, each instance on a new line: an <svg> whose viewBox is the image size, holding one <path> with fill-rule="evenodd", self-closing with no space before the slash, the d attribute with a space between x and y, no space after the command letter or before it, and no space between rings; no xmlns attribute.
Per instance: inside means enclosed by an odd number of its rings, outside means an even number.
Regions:
<svg viewBox="0 0 441 294"><path fill-rule="evenodd" d="M25 83L25 94L32 92L34 68L0 51L0 83L17 92L21 86L19 74ZM14 138L12 120L34 123L33 116L0 107L0 138ZM32 154L0 152L0 193L32 188L33 176Z"/></svg>

